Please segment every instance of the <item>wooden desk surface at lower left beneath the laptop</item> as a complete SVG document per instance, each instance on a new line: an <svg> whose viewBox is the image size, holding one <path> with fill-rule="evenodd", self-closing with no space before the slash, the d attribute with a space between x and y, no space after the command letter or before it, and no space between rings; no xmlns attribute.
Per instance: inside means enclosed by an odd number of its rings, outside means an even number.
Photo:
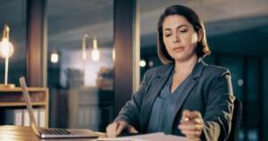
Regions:
<svg viewBox="0 0 268 141"><path fill-rule="evenodd" d="M0 141L94 141L90 138L57 138L40 139L29 127L22 126L0 126Z"/></svg>

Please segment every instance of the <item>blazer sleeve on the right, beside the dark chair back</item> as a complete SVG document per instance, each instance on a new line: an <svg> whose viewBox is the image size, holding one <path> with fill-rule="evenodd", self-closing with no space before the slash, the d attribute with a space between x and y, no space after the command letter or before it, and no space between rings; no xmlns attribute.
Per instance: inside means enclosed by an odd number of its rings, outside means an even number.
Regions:
<svg viewBox="0 0 268 141"><path fill-rule="evenodd" d="M208 87L202 140L222 141L228 138L234 99L230 72L215 75Z"/></svg>

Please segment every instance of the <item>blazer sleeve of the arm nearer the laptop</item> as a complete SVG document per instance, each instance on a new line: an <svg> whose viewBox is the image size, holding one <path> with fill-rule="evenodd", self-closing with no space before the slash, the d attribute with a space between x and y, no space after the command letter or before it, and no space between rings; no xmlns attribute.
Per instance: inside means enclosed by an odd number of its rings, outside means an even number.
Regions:
<svg viewBox="0 0 268 141"><path fill-rule="evenodd" d="M146 87L149 79L148 71L144 75L144 79L142 80L138 91L131 95L130 101L128 101L119 112L119 115L116 117L117 120L124 120L128 122L130 125L135 127L135 129L139 129L138 126L138 117L140 113L140 107L146 93Z"/></svg>

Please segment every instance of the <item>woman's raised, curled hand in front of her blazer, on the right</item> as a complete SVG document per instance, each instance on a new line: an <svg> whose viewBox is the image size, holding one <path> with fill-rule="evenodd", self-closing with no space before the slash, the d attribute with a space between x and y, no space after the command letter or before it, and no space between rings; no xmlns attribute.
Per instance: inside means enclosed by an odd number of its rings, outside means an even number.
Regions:
<svg viewBox="0 0 268 141"><path fill-rule="evenodd" d="M200 140L204 121L200 112L190 112L185 110L182 112L180 125L178 126L181 133L184 134L189 140Z"/></svg>

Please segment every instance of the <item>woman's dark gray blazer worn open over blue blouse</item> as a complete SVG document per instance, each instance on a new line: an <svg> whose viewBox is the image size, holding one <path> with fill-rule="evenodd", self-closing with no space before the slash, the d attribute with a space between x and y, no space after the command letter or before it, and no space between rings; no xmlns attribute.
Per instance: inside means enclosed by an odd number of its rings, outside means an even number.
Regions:
<svg viewBox="0 0 268 141"><path fill-rule="evenodd" d="M174 64L156 67L146 72L138 91L131 95L115 120L125 120L141 133L147 132L155 98L167 79L172 75ZM202 138L205 140L226 140L230 133L234 95L227 69L207 65L200 60L190 74L190 83L182 87L182 94L172 108L172 117L167 122L166 134L182 135L178 125L181 112L185 109L198 111L205 121ZM176 95L176 94L173 94ZM161 110L161 109L159 109Z"/></svg>

